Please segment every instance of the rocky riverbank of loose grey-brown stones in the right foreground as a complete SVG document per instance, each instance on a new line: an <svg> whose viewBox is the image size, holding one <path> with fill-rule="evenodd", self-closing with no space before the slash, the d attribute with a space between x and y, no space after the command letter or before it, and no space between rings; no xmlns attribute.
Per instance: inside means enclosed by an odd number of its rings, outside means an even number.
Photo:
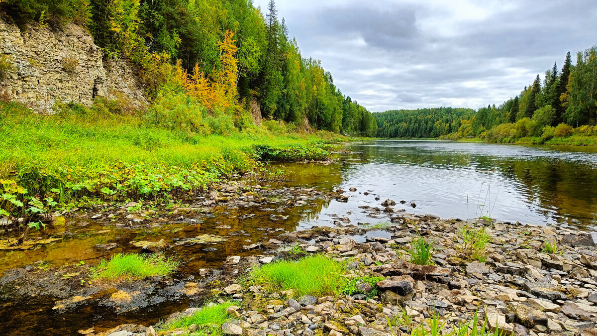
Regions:
<svg viewBox="0 0 597 336"><path fill-rule="evenodd" d="M214 304L236 303L227 308L232 318L218 328L230 335L389 336L429 328L435 316L445 323L441 334L450 334L476 313L479 321L487 321L488 331L501 335L597 335L597 251L592 236L573 228L479 221L469 224L485 228L489 237L484 262L479 262L462 251L459 232L464 225L459 219L401 214L385 225L386 236L362 243L356 237L380 228L337 225L283 234L273 243L298 243L301 255L322 253L344 262L346 277L356 279L354 293L297 297L291 290L267 291L230 277L211 291ZM433 265L407 261L405 251L419 234L433 242ZM554 253L546 252L554 247ZM222 269L245 274L248 265L289 256L281 248L275 258L230 257ZM373 285L363 280L372 278L378 279ZM196 311L180 311L165 322ZM150 328L122 325L95 335L187 335L202 328L163 327L163 322Z"/></svg>

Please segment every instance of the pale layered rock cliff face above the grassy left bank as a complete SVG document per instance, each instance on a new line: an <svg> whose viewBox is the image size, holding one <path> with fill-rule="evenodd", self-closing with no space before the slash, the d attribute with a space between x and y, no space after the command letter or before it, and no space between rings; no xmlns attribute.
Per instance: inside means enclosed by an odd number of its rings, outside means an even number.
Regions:
<svg viewBox="0 0 597 336"><path fill-rule="evenodd" d="M122 94L133 105L146 103L136 71L123 59L104 62L93 38L77 25L21 32L0 19L0 54L13 65L0 93L36 111L52 112L56 102L89 106L94 97Z"/></svg>

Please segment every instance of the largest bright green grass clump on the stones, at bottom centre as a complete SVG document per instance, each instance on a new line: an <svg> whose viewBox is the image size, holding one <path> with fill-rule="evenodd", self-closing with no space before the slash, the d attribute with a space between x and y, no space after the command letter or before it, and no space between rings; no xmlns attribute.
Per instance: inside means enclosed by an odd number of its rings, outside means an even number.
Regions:
<svg viewBox="0 0 597 336"><path fill-rule="evenodd" d="M346 283L344 263L323 255L306 256L298 261L278 261L251 271L249 285L270 291L293 289L300 297L339 295Z"/></svg>

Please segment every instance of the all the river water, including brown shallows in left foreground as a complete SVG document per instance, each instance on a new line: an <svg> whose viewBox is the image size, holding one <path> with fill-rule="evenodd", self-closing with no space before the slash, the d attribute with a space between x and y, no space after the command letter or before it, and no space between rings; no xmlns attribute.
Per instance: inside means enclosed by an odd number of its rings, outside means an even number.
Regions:
<svg viewBox="0 0 597 336"><path fill-rule="evenodd" d="M0 315L4 316L0 330L14 335L76 334L92 326L101 331L121 323L150 325L174 311L201 304L198 299L177 294L125 312L110 306L103 292L94 292L93 286L84 283L75 284L75 289L61 297L53 296L52 291L17 295L20 291L13 279L20 269L33 270L32 277L45 276L50 279L45 281L56 282L51 274L65 264L84 261L94 266L118 252L140 252L131 245L133 241L164 239L173 245L167 255L179 255L184 260L173 277L196 281L202 278L200 268L218 268L226 256L265 253L246 251L242 245L267 242L284 232L314 225L333 226L337 224L334 221L343 225L388 221L390 215L364 209L383 208L381 202L387 198L396 201L396 211L432 213L442 218L489 216L500 221L571 225L593 232L597 225L597 148L388 140L350 143L343 149L346 152L337 154L330 164L273 166L292 172L293 181L281 187L341 188L349 196L346 203L306 197L296 206L285 206L287 198L280 195L270 197L265 205L221 204L198 218L147 220L133 228L67 218L63 227L38 233L38 238L53 237L51 243L39 243L27 250L0 250ZM351 187L356 191L349 191ZM199 234L224 240L208 245L176 244ZM116 247L106 250L101 248L104 245ZM41 261L48 270L35 271ZM38 290L44 284L32 286ZM120 289L128 285L115 286ZM167 291L168 286L162 287L156 289L156 295ZM54 309L59 299L85 297L85 291L92 292L90 299L76 308Z"/></svg>

